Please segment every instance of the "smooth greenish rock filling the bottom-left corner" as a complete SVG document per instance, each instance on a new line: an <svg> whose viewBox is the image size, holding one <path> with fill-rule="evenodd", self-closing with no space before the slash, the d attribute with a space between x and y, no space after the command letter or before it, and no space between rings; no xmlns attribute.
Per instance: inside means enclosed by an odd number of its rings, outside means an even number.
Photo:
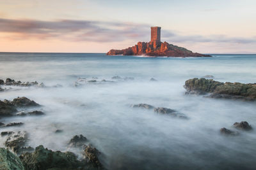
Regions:
<svg viewBox="0 0 256 170"><path fill-rule="evenodd" d="M5 148L0 148L0 169L1 170L24 170L24 166L16 155Z"/></svg>

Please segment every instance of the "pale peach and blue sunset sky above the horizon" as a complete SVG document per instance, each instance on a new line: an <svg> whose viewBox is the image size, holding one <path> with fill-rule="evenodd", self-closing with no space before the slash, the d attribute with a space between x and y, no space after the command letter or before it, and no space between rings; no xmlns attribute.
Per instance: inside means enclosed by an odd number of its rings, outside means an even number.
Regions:
<svg viewBox="0 0 256 170"><path fill-rule="evenodd" d="M0 52L108 52L161 41L256 53L255 0L0 0Z"/></svg>

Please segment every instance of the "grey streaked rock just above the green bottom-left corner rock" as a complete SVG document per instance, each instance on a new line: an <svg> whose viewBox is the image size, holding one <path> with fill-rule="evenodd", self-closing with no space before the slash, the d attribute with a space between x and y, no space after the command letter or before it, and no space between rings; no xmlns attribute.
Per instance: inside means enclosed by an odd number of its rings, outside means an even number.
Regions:
<svg viewBox="0 0 256 170"><path fill-rule="evenodd" d="M28 133L19 131L12 133L5 141L4 145L12 150L14 153L21 154L24 152L31 152L33 148L30 146L26 147L28 141Z"/></svg>

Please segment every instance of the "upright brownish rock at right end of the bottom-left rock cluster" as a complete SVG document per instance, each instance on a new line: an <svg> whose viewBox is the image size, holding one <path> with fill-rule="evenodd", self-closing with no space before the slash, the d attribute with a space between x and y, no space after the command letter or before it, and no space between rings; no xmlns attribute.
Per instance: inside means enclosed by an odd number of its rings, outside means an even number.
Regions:
<svg viewBox="0 0 256 170"><path fill-rule="evenodd" d="M88 162L91 162L94 167L97 167L100 169L102 168L102 164L98 159L99 154L100 152L96 148L93 148L91 145L84 146L84 152L83 152L84 159L86 159Z"/></svg>

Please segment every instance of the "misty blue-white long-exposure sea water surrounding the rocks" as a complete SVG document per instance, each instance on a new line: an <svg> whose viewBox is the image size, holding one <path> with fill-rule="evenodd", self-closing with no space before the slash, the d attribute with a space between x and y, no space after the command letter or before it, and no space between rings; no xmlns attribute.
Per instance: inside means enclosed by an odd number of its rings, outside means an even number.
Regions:
<svg viewBox="0 0 256 170"><path fill-rule="evenodd" d="M28 97L42 104L40 117L3 118L24 122L0 131L27 131L29 146L67 151L67 143L83 134L102 154L108 169L256 169L255 102L187 96L189 78L207 74L217 81L256 83L256 55L213 55L203 58L107 56L104 53L0 53L0 79L44 82L47 88L17 88L0 100ZM79 78L134 80L84 83ZM155 78L157 81L149 81ZM58 87L53 87L58 85ZM184 113L180 120L154 111L130 108L147 103ZM247 121L254 128L227 137ZM56 129L63 132L56 134ZM234 130L234 129L233 129ZM0 138L4 146L6 138ZM81 152L72 150L78 156Z"/></svg>

